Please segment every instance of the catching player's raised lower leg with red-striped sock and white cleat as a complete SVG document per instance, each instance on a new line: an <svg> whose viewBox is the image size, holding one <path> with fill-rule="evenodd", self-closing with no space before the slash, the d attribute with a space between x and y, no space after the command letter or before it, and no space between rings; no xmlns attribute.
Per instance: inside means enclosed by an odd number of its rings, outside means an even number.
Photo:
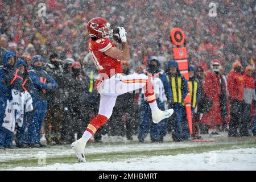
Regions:
<svg viewBox="0 0 256 182"><path fill-rule="evenodd" d="M144 89L144 94L146 96L146 100L151 108L152 119L154 123L159 123L160 121L170 117L172 113L174 113L173 109L162 111L158 108L158 105L156 104L155 92L154 92L150 77L148 77L146 85L143 87L143 89Z"/></svg>

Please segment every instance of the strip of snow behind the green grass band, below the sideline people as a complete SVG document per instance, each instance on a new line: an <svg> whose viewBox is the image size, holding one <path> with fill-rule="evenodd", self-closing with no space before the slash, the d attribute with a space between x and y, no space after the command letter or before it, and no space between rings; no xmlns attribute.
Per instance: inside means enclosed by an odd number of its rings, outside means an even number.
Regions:
<svg viewBox="0 0 256 182"><path fill-rule="evenodd" d="M134 137L134 140L138 139ZM130 152L130 151L152 151L152 150L164 150L166 148L181 148L181 147L192 147L201 146L201 143L171 142L171 136L166 136L164 143L131 143L124 137L117 136L103 136L102 143L87 145L85 147L85 155L88 154L102 154L109 152ZM146 138L146 142L149 142L150 138ZM43 140L44 142L44 140ZM170 143L169 143L170 142ZM205 143L207 144L207 143ZM18 149L7 149L0 151L0 162L20 159L35 159L38 158L42 153L47 154L47 158L54 156L74 156L73 150L70 145L64 146L50 146L47 148L18 148Z"/></svg>

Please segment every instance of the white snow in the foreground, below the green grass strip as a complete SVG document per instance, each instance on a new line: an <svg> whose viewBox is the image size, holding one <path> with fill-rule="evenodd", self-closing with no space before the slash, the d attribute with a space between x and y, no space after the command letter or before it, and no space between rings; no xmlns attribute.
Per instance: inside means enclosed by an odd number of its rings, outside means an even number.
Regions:
<svg viewBox="0 0 256 182"><path fill-rule="evenodd" d="M42 167L16 167L13 170L256 170L256 148L217 150L202 154L179 154L130 158L118 162L83 164L55 163Z"/></svg>

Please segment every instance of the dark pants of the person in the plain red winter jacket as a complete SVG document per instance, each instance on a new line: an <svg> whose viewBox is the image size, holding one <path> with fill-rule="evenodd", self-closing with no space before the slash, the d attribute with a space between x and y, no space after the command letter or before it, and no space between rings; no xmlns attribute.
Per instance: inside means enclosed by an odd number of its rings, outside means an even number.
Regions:
<svg viewBox="0 0 256 182"><path fill-rule="evenodd" d="M237 129L240 129L240 134L244 133L244 123L242 122L243 106L243 101L230 99L230 123L228 137L238 137Z"/></svg>

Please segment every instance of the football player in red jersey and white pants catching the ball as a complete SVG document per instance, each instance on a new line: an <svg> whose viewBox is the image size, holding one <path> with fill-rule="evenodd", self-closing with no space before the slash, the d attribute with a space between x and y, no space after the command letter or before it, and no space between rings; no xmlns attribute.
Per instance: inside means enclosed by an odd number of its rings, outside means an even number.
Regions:
<svg viewBox="0 0 256 182"><path fill-rule="evenodd" d="M115 34L122 42L122 49L115 47L110 40L114 33L106 19L97 17L89 20L87 29L91 38L89 51L100 73L95 84L100 93L100 108L97 117L89 123L82 137L71 145L79 162L85 162L85 144L108 121L117 96L143 88L155 123L170 117L174 112L173 109L162 111L158 108L151 79L148 76L143 74L122 75L121 60L130 59L125 28L118 27L119 32Z"/></svg>

